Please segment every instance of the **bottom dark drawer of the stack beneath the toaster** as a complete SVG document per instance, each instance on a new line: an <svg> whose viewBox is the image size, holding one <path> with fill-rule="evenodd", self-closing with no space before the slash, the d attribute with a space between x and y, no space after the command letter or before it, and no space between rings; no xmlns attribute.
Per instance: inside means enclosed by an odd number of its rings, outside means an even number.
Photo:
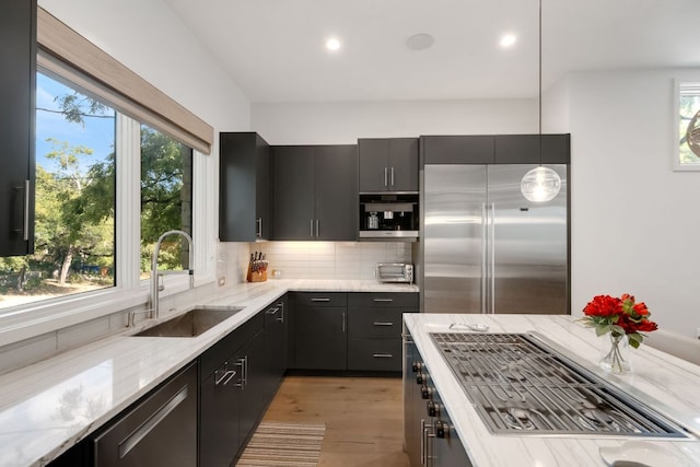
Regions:
<svg viewBox="0 0 700 467"><path fill-rule="evenodd" d="M401 371L401 339L349 339L348 370Z"/></svg>

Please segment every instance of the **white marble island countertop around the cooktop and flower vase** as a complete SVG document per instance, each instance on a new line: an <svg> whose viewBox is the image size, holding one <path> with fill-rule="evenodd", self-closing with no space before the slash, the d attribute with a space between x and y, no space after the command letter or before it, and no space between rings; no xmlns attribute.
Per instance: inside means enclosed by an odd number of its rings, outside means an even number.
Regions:
<svg viewBox="0 0 700 467"><path fill-rule="evenodd" d="M605 466L607 464L599 454L600 447L626 446L633 439L491 434L428 335L455 331L448 329L452 323L486 324L489 332L537 331L561 346L562 350L565 349L564 353L576 355L576 363L649 404L662 415L675 420L682 419L685 427L700 433L700 366L642 345L639 349L630 350L633 365L631 374L604 373L596 364L599 342L594 330L584 328L571 316L405 314L404 320L475 467ZM637 452L640 451L639 446ZM648 450L645 460L654 467L700 466L698 439L644 440L643 446ZM663 457L656 460L654 457L660 455Z"/></svg>

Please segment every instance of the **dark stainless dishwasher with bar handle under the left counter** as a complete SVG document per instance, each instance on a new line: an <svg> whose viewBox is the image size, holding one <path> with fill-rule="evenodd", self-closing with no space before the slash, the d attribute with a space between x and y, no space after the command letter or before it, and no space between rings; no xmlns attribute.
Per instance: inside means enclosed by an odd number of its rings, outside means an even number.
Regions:
<svg viewBox="0 0 700 467"><path fill-rule="evenodd" d="M95 467L197 465L197 362L94 439Z"/></svg>

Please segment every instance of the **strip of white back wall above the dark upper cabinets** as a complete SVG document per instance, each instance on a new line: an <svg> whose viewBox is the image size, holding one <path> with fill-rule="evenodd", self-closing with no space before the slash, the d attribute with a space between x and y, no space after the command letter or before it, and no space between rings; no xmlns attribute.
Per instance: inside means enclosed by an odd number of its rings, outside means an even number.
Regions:
<svg viewBox="0 0 700 467"><path fill-rule="evenodd" d="M253 103L270 144L354 144L358 138L537 131L536 100Z"/></svg>

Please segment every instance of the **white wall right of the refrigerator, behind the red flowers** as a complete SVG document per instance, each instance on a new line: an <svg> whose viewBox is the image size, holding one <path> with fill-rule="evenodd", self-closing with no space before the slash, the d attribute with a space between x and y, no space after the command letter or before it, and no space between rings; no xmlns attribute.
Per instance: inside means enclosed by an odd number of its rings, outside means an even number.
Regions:
<svg viewBox="0 0 700 467"><path fill-rule="evenodd" d="M664 329L700 327L700 173L673 172L673 79L700 69L571 75L572 308L628 292ZM651 335L653 337L653 335Z"/></svg>

